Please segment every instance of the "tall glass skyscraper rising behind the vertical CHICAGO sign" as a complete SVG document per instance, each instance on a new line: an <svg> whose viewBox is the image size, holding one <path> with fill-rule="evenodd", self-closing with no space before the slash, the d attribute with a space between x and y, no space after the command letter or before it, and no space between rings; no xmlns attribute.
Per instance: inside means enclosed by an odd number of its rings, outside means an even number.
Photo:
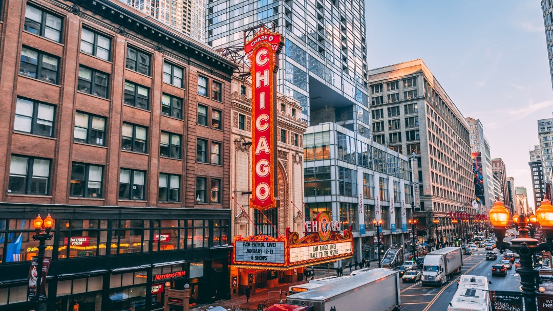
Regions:
<svg viewBox="0 0 553 311"><path fill-rule="evenodd" d="M278 91L300 102L302 118L369 138L363 0L208 0L206 43L242 45L244 29L260 22L286 38Z"/></svg>

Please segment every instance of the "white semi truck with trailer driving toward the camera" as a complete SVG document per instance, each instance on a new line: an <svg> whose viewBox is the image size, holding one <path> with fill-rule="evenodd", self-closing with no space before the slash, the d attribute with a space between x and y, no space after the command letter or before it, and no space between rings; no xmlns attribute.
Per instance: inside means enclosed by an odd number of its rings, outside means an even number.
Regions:
<svg viewBox="0 0 553 311"><path fill-rule="evenodd" d="M422 266L422 286L442 286L453 273L461 272L462 266L461 247L444 247L429 252Z"/></svg>

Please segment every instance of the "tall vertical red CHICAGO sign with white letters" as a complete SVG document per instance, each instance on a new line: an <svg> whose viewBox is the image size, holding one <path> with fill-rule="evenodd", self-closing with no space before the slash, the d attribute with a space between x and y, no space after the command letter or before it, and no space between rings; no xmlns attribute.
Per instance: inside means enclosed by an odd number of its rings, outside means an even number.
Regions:
<svg viewBox="0 0 553 311"><path fill-rule="evenodd" d="M276 207L276 71L284 43L279 33L260 28L244 52L252 75L252 198L259 210Z"/></svg>

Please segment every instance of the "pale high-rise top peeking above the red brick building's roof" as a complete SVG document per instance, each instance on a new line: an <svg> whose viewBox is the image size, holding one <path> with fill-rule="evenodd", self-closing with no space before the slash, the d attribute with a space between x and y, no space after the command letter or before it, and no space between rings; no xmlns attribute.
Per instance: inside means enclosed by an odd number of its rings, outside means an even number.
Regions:
<svg viewBox="0 0 553 311"><path fill-rule="evenodd" d="M111 0L116 1L116 0ZM190 38L205 41L205 0L117 0Z"/></svg>

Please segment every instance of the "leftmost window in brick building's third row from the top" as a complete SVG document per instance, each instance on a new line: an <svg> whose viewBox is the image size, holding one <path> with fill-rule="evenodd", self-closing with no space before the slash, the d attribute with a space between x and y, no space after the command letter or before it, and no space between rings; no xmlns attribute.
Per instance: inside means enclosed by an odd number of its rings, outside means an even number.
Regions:
<svg viewBox="0 0 553 311"><path fill-rule="evenodd" d="M54 106L18 97L13 129L52 137L54 136L54 115Z"/></svg>

